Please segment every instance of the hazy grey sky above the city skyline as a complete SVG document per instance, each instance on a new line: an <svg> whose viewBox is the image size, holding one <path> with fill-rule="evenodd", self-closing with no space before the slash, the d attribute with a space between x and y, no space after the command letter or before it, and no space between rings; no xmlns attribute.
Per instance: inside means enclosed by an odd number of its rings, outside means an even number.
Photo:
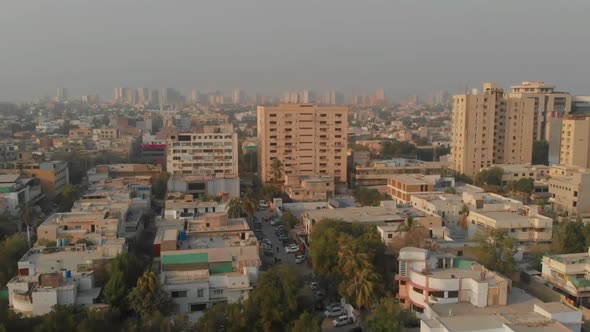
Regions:
<svg viewBox="0 0 590 332"><path fill-rule="evenodd" d="M590 94L590 1L0 0L0 100L117 86Z"/></svg>

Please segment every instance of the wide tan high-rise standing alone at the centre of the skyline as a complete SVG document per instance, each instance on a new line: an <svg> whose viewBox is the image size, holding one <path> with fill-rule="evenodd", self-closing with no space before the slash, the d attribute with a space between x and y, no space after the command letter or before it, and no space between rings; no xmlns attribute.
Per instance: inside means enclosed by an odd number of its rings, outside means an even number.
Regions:
<svg viewBox="0 0 590 332"><path fill-rule="evenodd" d="M263 182L275 178L273 161L282 175L334 176L346 182L348 108L310 104L258 107L259 173Z"/></svg>

